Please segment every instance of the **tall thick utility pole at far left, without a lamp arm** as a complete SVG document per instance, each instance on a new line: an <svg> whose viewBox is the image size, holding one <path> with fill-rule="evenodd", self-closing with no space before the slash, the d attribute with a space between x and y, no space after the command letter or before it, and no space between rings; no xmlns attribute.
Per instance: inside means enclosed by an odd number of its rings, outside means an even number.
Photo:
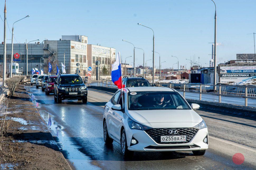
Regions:
<svg viewBox="0 0 256 170"><path fill-rule="evenodd" d="M3 86L6 79L6 0L4 4L4 51L3 51ZM12 68L11 68L12 69Z"/></svg>

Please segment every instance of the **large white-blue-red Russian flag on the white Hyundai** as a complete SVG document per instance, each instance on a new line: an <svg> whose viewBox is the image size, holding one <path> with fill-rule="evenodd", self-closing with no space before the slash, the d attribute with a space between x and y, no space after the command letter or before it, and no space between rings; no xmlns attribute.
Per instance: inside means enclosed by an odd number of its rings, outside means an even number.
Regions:
<svg viewBox="0 0 256 170"><path fill-rule="evenodd" d="M116 56L116 61L114 62L114 64L112 64L111 78L112 78L112 82L119 89L125 87L124 85L122 85L120 52L118 52L118 55Z"/></svg>

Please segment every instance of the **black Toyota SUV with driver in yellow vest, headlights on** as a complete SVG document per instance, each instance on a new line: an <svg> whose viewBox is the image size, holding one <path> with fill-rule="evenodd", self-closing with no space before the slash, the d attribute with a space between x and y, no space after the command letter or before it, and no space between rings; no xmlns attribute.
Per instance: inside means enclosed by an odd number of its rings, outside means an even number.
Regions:
<svg viewBox="0 0 256 170"><path fill-rule="evenodd" d="M82 100L87 103L87 87L78 74L59 74L54 82L54 101Z"/></svg>

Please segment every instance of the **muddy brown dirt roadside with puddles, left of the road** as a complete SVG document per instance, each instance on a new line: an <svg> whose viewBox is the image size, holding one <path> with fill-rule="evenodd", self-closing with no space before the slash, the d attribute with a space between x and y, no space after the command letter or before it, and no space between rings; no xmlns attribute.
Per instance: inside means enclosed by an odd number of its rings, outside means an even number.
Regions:
<svg viewBox="0 0 256 170"><path fill-rule="evenodd" d="M8 103L5 124L9 126L3 136L0 169L74 169L31 102L25 83L19 84L13 97L4 100ZM0 108L3 107L4 102ZM0 124L1 114L3 111Z"/></svg>

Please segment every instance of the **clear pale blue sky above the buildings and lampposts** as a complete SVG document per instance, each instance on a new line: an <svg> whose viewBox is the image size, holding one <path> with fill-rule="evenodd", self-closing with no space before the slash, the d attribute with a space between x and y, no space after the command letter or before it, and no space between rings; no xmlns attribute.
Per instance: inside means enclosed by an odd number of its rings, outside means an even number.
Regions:
<svg viewBox="0 0 256 170"><path fill-rule="evenodd" d="M2 19L4 1L2 3ZM256 32L256 1L215 0L217 7L217 63L236 59L236 54L254 53L253 33ZM84 35L88 44L116 48L122 61L133 56L133 46L145 51L145 60L152 59L153 32L155 51L160 53L162 68L179 65L189 68L186 59L195 56L203 66L208 66L214 42L215 6L211 0L180 1L35 1L7 0L7 22L30 15L14 25L14 36L19 43L40 39L58 40L61 35ZM0 32L3 41L4 23ZM7 39L11 33L7 27ZM14 40L14 43L17 43ZM7 40L11 43L11 40ZM127 58L132 64L133 57ZM207 63L207 64L205 64ZM143 51L135 49L135 64L143 64ZM152 66L152 60L147 62ZM155 54L159 66L159 54ZM174 68L177 64L174 65Z"/></svg>

